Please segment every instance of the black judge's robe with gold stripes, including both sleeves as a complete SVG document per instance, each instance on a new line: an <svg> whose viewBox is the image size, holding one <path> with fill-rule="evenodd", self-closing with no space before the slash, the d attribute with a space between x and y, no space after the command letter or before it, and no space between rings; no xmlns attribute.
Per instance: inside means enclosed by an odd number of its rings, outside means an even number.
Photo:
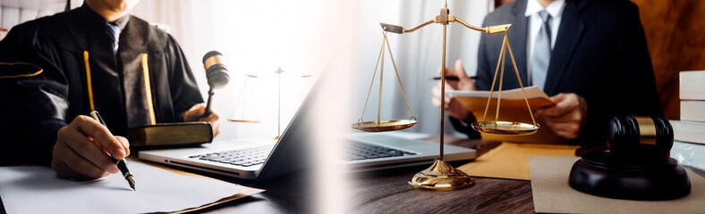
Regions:
<svg viewBox="0 0 705 214"><path fill-rule="evenodd" d="M91 105L125 136L150 122L150 106L156 122L178 122L203 102L173 37L132 16L115 55L106 24L84 4L22 23L0 42L0 166L49 164L57 130Z"/></svg>

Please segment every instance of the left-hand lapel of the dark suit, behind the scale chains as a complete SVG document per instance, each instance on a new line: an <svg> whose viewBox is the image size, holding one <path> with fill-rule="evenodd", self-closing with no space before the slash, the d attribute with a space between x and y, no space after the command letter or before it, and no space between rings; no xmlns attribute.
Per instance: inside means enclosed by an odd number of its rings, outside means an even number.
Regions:
<svg viewBox="0 0 705 214"><path fill-rule="evenodd" d="M526 78L526 35L527 35L527 22L528 19L524 16L524 11L526 10L526 0L520 0L514 4L512 8L513 17L511 17L512 28L508 31L509 44L512 45L512 52L514 53L514 60L516 61L516 67L519 70L519 76L522 77L522 84L528 86ZM509 61L509 70L514 71L511 65L511 59L509 56L506 57ZM512 72L514 74L514 72ZM514 75L512 75L514 76ZM511 76L510 76L511 77ZM515 83L514 81L510 81ZM516 85L519 85L518 83ZM517 86L519 87L519 86Z"/></svg>

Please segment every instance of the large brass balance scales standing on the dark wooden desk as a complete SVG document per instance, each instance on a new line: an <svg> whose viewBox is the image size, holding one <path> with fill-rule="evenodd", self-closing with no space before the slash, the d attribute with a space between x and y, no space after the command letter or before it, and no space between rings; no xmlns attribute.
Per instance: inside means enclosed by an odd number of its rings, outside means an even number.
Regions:
<svg viewBox="0 0 705 214"><path fill-rule="evenodd" d="M539 124L536 123L536 120L533 117L533 113L531 112L531 106L529 105L529 101L526 98L526 93L524 92L524 88L522 85L522 78L519 76L519 70L516 68L516 62L514 62L514 53L512 53L512 47L509 45L509 40L507 38L507 30L509 27L512 26L512 24L504 24L504 25L496 25L496 26L488 26L485 28L479 28L472 26L465 21L462 21L455 17L454 15L450 14L450 11L448 10L448 3L445 1L443 8L440 9L440 14L436 16L433 20L426 21L421 23L420 25L413 27L412 29L404 29L402 26L397 26L397 25L391 25L391 24L386 24L386 23L379 23L383 29L383 41L382 41L382 47L379 50L378 53L378 60L377 60L377 65L375 65L375 71L372 74L372 83L369 85L369 90L368 90L368 95L367 99L365 100L365 105L362 109L362 115L360 116L360 119L358 119L358 122L353 124L353 129L356 129L358 131L363 131L363 132L383 132L383 131L394 131L394 130L401 130L404 128L411 128L413 127L417 121L416 118L413 117L412 115L412 110L409 108L409 103L406 100L406 95L404 94L403 86L402 86L402 81L401 78L399 77L399 72L396 69L396 62L394 60L394 55L392 55L392 50L391 47L389 46L389 41L386 37L387 32L392 32L396 34L404 34L404 33L411 33L413 31L416 31L417 29L421 29L429 24L432 23L437 23L443 25L443 53L442 53L442 62L441 62L441 70L443 70L444 74L441 75L441 97L446 97L446 75L445 75L445 70L446 70L446 27L448 23L450 22L458 22L465 26L468 29L473 29L477 31L481 31L487 34L500 34L504 33L505 37L502 43L502 49L499 53L498 59L497 59L497 69L495 70L495 75L494 78L492 78L492 86L490 87L489 91L489 97L488 97L488 102L485 107L485 112L482 116L482 120L474 122L471 124L471 127L474 128L475 130L483 133L488 133L488 134L497 134L497 135L512 135L512 136L525 136L525 135L531 135L536 133L539 130ZM403 95L403 100L404 103L406 103L406 109L409 111L409 119L391 119L391 120L381 120L380 119L380 113L381 113L381 101L382 101L382 78L383 78L383 73L384 73L384 52L385 52L385 46L386 49L389 52L389 57L392 60L392 65L394 66L395 69L395 74L396 74L396 80L399 83L399 88L402 91ZM531 121L532 124L527 124L527 123L522 123L522 122L515 122L515 121L500 121L499 120L499 106L502 98L502 82L504 79L504 74L505 74L505 58L506 58L506 52L505 50L508 50L509 56L512 59L512 64L514 65L514 71L516 73L516 78L519 81L519 86L522 87L522 94L524 101L526 102L526 107L529 110L529 114L531 115ZM381 66L379 66L381 65ZM369 101L369 93L372 90L372 86L374 85L375 77L377 76L377 69L379 68L379 103L378 103L378 113L377 113L377 120L376 121L364 121L362 118L365 115L365 109L367 108L367 103ZM495 120L494 121L487 121L487 112L489 108L489 103L492 100L492 95L494 93L494 88L495 84L497 83L497 74L499 74L499 86L497 90L497 113L495 114ZM441 106L445 106L446 101L444 98L441 99ZM440 155L439 158L431 165L428 169L424 169L420 171L419 173L416 173L415 176L411 178L411 180L407 183L409 187L413 189L421 189L421 190L431 190L431 191L450 191L450 190L458 190L458 189L463 189L466 187L470 187L473 185L472 178L465 174L463 171L456 170L451 166L447 161L444 160L443 157L443 144L444 144L444 122L446 118L446 113L443 111L441 108L440 111Z"/></svg>

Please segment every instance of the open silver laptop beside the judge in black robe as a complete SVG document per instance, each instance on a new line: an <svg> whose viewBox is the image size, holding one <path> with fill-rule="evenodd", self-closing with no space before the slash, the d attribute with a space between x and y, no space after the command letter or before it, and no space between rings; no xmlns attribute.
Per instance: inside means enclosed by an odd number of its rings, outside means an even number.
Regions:
<svg viewBox="0 0 705 214"><path fill-rule="evenodd" d="M314 86L315 88L316 86ZM278 140L233 139L198 147L140 151L138 157L166 165L243 179L268 179L310 165L311 90Z"/></svg>

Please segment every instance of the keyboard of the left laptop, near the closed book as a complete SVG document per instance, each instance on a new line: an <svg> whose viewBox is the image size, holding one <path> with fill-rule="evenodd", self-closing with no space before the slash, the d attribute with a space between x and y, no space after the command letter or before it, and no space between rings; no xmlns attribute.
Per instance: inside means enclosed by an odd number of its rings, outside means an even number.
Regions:
<svg viewBox="0 0 705 214"><path fill-rule="evenodd" d="M189 158L200 159L203 161L213 161L235 166L250 167L257 164L262 164L267 160L269 152L272 151L272 146L255 147L251 149L232 150L225 152L212 152L200 155L191 155Z"/></svg>

